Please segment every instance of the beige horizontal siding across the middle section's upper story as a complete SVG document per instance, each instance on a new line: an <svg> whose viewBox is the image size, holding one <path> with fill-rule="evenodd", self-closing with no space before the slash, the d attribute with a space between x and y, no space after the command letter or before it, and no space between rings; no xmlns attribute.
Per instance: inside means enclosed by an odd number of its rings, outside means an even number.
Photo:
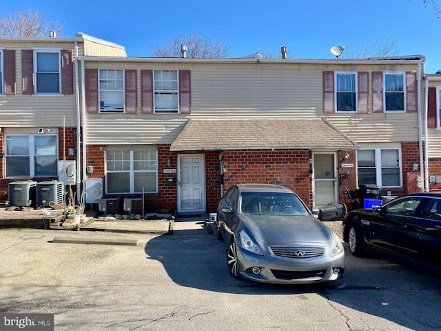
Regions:
<svg viewBox="0 0 441 331"><path fill-rule="evenodd" d="M192 70L192 119L316 119L325 117L358 143L378 141L418 141L416 113L389 114L353 112L323 113L323 68L317 64L280 66L263 63L204 63L201 66L171 63L170 70ZM114 66L120 63L112 62ZM90 63L96 68L96 63ZM101 68L109 67L104 63ZM163 63L127 63L125 69L161 70ZM415 66L401 66L400 72ZM350 70L350 71L349 71ZM371 72L378 66L354 66L347 72L369 72L369 104L372 102ZM340 70L340 72L342 72ZM137 77L141 86L141 75ZM359 92L359 91L358 91ZM141 104L141 93L138 94ZM370 106L371 107L371 106ZM170 144L188 120L176 112L161 113L161 117L133 114L88 114L88 143L117 145L119 143ZM114 130L115 123L119 130ZM136 126L134 126L136 123ZM409 126L409 123L413 123ZM393 128L393 130L391 130ZM130 132L130 134L127 134Z"/></svg>

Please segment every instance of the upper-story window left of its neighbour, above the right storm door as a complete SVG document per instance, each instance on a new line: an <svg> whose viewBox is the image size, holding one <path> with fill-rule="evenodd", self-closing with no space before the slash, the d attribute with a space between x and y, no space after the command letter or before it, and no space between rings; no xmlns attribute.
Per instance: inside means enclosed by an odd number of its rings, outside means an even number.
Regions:
<svg viewBox="0 0 441 331"><path fill-rule="evenodd" d="M336 103L337 112L357 111L356 72L336 72Z"/></svg>

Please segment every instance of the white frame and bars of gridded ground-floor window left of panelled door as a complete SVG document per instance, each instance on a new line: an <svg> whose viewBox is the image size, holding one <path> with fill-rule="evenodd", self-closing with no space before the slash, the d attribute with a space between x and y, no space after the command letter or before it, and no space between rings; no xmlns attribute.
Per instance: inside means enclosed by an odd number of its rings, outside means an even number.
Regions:
<svg viewBox="0 0 441 331"><path fill-rule="evenodd" d="M156 170L134 170L134 151L135 150L151 150L155 152L155 157L156 160L152 160L152 161L156 161ZM109 170L107 167L107 161L112 161L112 160L107 160L107 152L112 152L112 151L116 151L116 152L121 152L121 151L128 151L130 152L130 159L126 160L126 161L130 161L130 169L129 170ZM130 180L130 192L109 192L108 188L108 177L107 174L110 173L129 173L129 180ZM139 194L142 193L141 191L135 191L135 173L143 173L143 172L148 172L148 173L154 173L155 177L156 177L156 190L152 191L148 191L145 190L144 193L158 193L158 148L157 146L107 146L106 150L105 150L105 192L106 194Z"/></svg>

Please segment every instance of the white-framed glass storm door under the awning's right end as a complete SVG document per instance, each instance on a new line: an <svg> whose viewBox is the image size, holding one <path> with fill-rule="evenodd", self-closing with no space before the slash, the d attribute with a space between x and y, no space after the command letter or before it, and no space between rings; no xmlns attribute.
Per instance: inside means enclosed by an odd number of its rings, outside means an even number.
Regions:
<svg viewBox="0 0 441 331"><path fill-rule="evenodd" d="M335 152L313 152L313 205L332 205L338 202L337 154Z"/></svg>

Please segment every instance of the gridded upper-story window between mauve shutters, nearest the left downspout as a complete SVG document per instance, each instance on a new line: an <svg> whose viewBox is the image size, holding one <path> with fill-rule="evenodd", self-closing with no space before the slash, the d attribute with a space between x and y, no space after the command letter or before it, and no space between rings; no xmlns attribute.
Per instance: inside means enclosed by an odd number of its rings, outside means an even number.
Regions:
<svg viewBox="0 0 441 331"><path fill-rule="evenodd" d="M124 112L124 70L99 70L100 112Z"/></svg>

